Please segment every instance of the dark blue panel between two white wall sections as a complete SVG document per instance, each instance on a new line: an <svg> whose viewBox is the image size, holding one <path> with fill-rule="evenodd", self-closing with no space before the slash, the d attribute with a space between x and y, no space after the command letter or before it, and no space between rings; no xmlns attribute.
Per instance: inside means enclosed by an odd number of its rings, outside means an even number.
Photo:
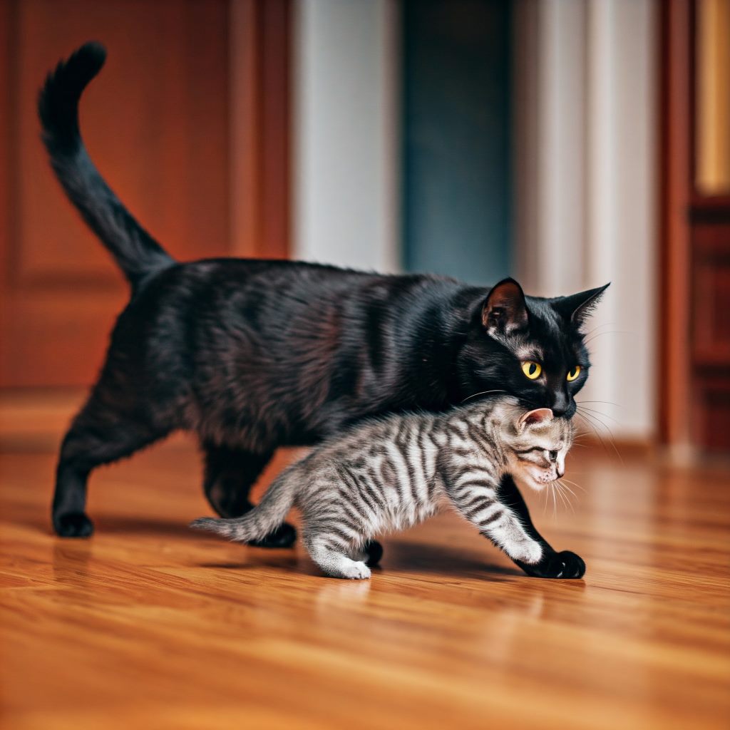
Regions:
<svg viewBox="0 0 730 730"><path fill-rule="evenodd" d="M404 0L407 271L493 283L510 273L507 0Z"/></svg>

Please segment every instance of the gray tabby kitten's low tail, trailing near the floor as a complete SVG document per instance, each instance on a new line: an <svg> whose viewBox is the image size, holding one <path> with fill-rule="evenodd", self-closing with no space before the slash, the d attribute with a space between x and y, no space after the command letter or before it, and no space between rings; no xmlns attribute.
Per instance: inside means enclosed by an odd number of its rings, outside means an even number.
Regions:
<svg viewBox="0 0 730 730"><path fill-rule="evenodd" d="M237 542L252 542L266 537L283 523L294 504L300 472L294 464L285 470L266 490L261 502L242 517L230 520L201 517L190 526L197 530L217 532Z"/></svg>

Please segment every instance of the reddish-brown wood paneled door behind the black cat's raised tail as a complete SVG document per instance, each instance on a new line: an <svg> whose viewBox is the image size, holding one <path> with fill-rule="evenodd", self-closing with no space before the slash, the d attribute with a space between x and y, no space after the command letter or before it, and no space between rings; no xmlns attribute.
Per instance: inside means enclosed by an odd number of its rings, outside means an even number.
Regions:
<svg viewBox="0 0 730 730"><path fill-rule="evenodd" d="M288 252L288 0L0 0L4 388L91 383L126 302L39 140L39 86L88 39L82 134L140 223L182 260Z"/></svg>

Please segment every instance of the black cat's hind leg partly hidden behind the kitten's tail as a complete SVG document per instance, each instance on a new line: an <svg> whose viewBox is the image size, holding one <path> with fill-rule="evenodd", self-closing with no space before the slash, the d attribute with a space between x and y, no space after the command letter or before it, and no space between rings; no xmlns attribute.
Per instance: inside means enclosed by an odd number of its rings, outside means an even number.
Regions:
<svg viewBox="0 0 730 730"><path fill-rule="evenodd" d="M203 488L210 506L221 517L234 518L253 508L248 500L251 487L272 458L264 454L229 449L204 443L205 476ZM259 548L291 548L296 530L288 523L277 527L261 540L250 542Z"/></svg>

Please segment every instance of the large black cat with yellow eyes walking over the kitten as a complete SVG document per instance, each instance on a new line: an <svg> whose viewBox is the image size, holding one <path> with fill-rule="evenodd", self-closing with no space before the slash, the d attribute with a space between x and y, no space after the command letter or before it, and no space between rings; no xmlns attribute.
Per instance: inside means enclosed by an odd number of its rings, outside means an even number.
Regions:
<svg viewBox="0 0 730 730"><path fill-rule="evenodd" d="M232 517L250 509L250 487L277 447L313 444L366 416L444 410L495 390L575 412L589 366L580 326L606 287L536 299L511 279L490 291L286 261L174 261L82 143L78 102L105 57L98 44L82 46L39 96L55 174L131 286L99 381L61 447L59 535L93 531L92 469L176 429L199 434L206 496ZM285 525L264 544L293 539Z"/></svg>

